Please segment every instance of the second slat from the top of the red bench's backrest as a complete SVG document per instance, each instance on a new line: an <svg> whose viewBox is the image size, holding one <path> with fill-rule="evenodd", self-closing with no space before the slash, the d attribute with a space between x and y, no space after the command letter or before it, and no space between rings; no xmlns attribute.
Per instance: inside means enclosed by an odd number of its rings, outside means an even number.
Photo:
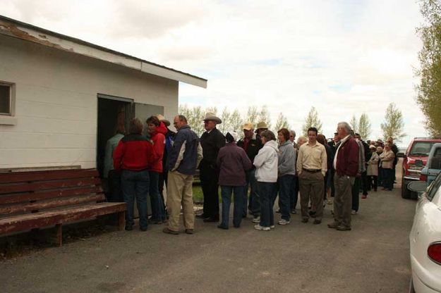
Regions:
<svg viewBox="0 0 441 293"><path fill-rule="evenodd" d="M56 189L75 186L100 185L99 178L69 179L59 181L35 182L28 184L0 185L0 194L10 192L32 192L42 189Z"/></svg>

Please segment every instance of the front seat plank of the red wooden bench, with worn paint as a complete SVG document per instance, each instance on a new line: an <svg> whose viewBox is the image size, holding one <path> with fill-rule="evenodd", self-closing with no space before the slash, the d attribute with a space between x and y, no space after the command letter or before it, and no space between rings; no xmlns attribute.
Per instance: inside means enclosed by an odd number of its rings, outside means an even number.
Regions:
<svg viewBox="0 0 441 293"><path fill-rule="evenodd" d="M31 230L56 224L71 223L78 220L92 219L109 213L126 211L125 203L100 203L80 208L66 208L59 211L29 213L0 219L0 234Z"/></svg>

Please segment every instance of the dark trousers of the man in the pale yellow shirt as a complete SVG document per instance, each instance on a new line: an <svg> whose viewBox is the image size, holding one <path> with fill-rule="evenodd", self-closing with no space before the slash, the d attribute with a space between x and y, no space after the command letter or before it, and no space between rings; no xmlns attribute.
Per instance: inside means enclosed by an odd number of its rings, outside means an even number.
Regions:
<svg viewBox="0 0 441 293"><path fill-rule="evenodd" d="M311 206L315 207L315 218L323 218L323 193L325 185L321 172L311 173L303 170L298 176L300 185L300 206L303 219L309 218L308 202L311 199Z"/></svg>

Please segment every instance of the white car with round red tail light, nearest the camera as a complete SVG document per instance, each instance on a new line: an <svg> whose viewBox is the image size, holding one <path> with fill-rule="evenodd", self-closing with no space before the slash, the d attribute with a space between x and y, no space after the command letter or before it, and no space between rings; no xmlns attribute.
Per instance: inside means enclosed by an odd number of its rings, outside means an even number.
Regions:
<svg viewBox="0 0 441 293"><path fill-rule="evenodd" d="M418 187L419 183L419 187ZM441 292L441 173L425 188L411 182L408 188L423 192L416 204L411 234L412 278L409 292Z"/></svg>

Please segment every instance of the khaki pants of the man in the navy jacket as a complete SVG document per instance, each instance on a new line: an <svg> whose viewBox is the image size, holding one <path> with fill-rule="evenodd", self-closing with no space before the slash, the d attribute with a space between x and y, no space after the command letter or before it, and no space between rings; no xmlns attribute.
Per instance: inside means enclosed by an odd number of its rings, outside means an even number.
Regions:
<svg viewBox="0 0 441 293"><path fill-rule="evenodd" d="M178 171L169 171L167 182L167 211L169 212L169 230L179 231L179 214L183 209L183 225L194 229L195 213L193 211L193 175Z"/></svg>

